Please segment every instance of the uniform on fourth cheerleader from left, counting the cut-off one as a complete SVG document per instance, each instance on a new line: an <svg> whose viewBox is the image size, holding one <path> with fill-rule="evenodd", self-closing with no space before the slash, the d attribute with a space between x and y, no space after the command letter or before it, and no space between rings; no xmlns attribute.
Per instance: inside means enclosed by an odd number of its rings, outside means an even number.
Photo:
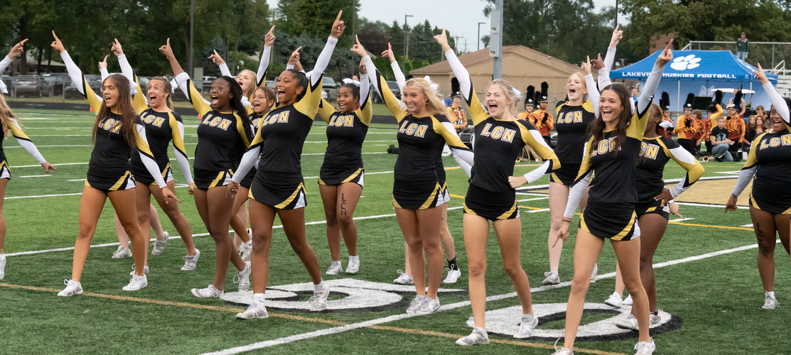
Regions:
<svg viewBox="0 0 791 355"><path fill-rule="evenodd" d="M250 146L247 131L240 115L246 112L220 112L206 104L187 75L176 76L181 85L187 83L187 100L201 119L198 125L198 146L195 147L195 187L208 190L228 185L245 150ZM244 176L242 176L244 177Z"/></svg>

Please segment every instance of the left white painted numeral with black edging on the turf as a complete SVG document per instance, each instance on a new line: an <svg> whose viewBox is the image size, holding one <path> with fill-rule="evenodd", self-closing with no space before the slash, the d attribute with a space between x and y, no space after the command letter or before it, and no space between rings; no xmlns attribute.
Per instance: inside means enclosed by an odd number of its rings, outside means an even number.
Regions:
<svg viewBox="0 0 791 355"><path fill-rule="evenodd" d="M324 283L330 286L328 312L379 312L393 308L407 308L414 297L413 285L393 285L354 278L324 280ZM467 294L466 289L439 289L438 292ZM309 296L313 296L313 284L309 282L268 286L267 309L308 311ZM220 298L232 304L247 306L252 303L252 290L223 293Z"/></svg>

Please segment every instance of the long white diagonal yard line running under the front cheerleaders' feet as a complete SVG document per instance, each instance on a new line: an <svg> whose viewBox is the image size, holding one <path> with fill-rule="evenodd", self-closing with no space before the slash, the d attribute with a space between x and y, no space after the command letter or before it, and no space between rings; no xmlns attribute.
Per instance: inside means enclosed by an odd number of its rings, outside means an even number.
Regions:
<svg viewBox="0 0 791 355"><path fill-rule="evenodd" d="M778 243L779 242L780 242L780 240L778 240ZM717 255L729 254L729 253L736 252L736 251L744 251L744 250L748 250L748 249L755 249L756 247L758 247L758 244L747 245L747 246L744 246L744 247L734 247L734 248L726 249L726 250L723 250L723 251L713 251L713 252L702 254L702 255L691 256L689 258L670 260L670 261L667 261L667 262L659 262L659 263L653 264L653 268L654 269L658 269L658 268L664 267L664 266L676 265L676 264L680 264L680 263L683 263L683 262L692 262L692 261L696 261L696 260L711 258L711 257L717 256ZM604 278L614 278L614 277L615 277L615 273L613 272L613 273L609 273L609 274L599 275L599 276L596 277L596 279L600 280L600 279L604 279ZM541 291L546 291L548 289L560 289L562 287L566 287L566 286L570 286L570 285L571 285L571 281L566 281L566 282L561 282L558 285L549 285L549 286L541 286L541 287L532 288L532 289L530 289L530 293L537 293L537 292L541 292ZM506 298L512 298L512 297L516 297L516 296L517 296L517 293L515 293L515 292L514 293L505 293L505 294L501 294L501 295L497 295L497 296L486 297L486 300L487 301L503 300L503 299L506 299ZM468 300L461 301L461 302L456 302L456 303L453 303L453 304L445 304L444 306L441 306L439 308L439 310L437 310L437 312L447 311L449 309L467 307L469 305L470 305L470 301L468 301ZM351 324L346 324L345 326L340 326L340 327L331 327L331 328L322 329L322 330L315 330L315 331L311 331L311 332L308 332L308 333L290 335L288 337L282 337L282 338L267 340L267 341L264 341L264 342L255 342L253 344L249 344L249 345L246 345L246 346L237 346L237 347L233 347L233 348L230 348L230 349L215 351L213 353L205 353L204 355L230 355L230 354L234 354L234 353L244 353L244 352L247 352L247 351L250 351L250 350L254 350L254 349L262 349L262 348L267 348L267 347L271 347L271 346L278 346L278 345L286 344L286 343L290 343L290 342L297 342L299 340L305 340L305 339L310 339L310 338L317 338L317 337L320 337L322 335L343 333L344 331L348 331L348 330L359 329L359 328L362 328L362 327L370 327L370 326L377 325L377 324L389 323L389 322L393 322L395 320L406 319L406 318L411 318L411 317L415 317L415 316L418 316L418 315L407 315L407 314L389 315L387 317L366 320L365 322L351 323Z"/></svg>

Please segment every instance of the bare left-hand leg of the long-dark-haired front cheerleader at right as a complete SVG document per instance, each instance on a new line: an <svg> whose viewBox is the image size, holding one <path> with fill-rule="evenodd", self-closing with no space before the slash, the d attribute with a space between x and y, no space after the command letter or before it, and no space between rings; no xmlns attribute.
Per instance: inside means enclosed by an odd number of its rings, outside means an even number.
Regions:
<svg viewBox="0 0 791 355"><path fill-rule="evenodd" d="M569 304L566 307L566 338L563 341L565 348L574 348L574 339L577 338L582 310L585 308L585 293L588 293L593 265L596 264L603 245L604 238L594 236L581 228L577 229L577 240L574 244L574 278L571 281ZM635 256L637 253L639 251L635 251ZM639 266L638 263L639 259L635 267Z"/></svg>

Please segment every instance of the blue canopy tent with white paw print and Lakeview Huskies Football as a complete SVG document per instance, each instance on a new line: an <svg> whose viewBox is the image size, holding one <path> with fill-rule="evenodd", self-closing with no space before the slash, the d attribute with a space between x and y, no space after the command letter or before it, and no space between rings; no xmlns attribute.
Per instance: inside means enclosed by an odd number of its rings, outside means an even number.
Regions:
<svg viewBox="0 0 791 355"><path fill-rule="evenodd" d="M649 55L648 58L630 66L624 66L610 73L612 79L630 79L640 81L645 85L645 79L651 73L653 63L661 51ZM688 93L695 96L713 96L714 88L741 88L755 91L752 95L744 95L747 104L752 103L755 108L763 105L766 111L771 105L769 96L763 86L755 79L753 70L758 70L741 59L736 58L730 51L673 51L673 60L664 66L662 80L657 89L655 101L659 101L659 94L666 91L670 94L671 111L682 111L681 106L687 100ZM778 76L766 73L766 77L775 87L778 86ZM728 103L733 98L732 92L726 92L723 102Z"/></svg>

